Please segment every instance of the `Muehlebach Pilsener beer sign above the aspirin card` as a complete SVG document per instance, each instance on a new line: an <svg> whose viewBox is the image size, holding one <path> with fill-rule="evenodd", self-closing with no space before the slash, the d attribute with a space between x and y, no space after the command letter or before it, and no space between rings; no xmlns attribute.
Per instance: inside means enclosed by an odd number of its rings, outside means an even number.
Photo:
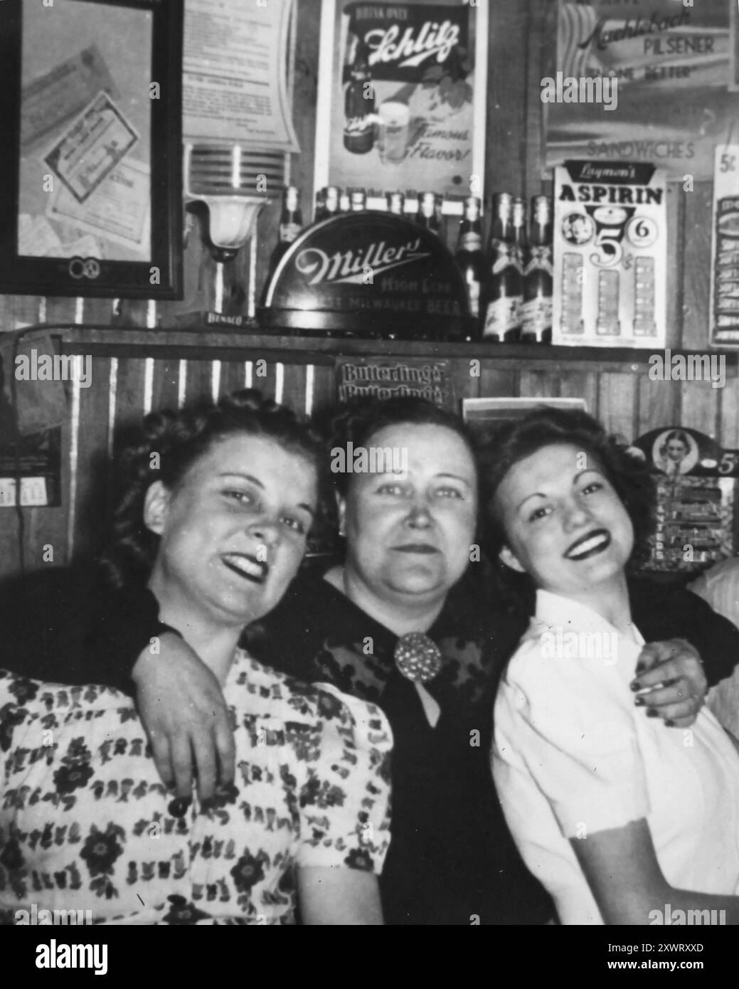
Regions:
<svg viewBox="0 0 739 989"><path fill-rule="evenodd" d="M737 114L731 3L560 0L558 98L550 100L552 87L542 92L545 167L628 159L660 165L671 179L710 180L713 147L730 139ZM589 83L605 76L616 84L607 101Z"/></svg>

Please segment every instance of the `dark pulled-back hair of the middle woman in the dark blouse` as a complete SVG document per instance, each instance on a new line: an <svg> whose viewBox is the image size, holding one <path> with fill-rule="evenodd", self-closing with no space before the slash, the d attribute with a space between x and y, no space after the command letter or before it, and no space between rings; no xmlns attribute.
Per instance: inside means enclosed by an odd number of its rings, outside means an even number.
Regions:
<svg viewBox="0 0 739 989"><path fill-rule="evenodd" d="M397 425L430 425L449 429L460 437L477 463L474 438L459 416L419 396L355 400L333 415L326 425L326 432L331 449L345 449L349 442L356 449L368 446L381 429ZM333 474L331 480L335 490L346 495L352 477L352 474Z"/></svg>

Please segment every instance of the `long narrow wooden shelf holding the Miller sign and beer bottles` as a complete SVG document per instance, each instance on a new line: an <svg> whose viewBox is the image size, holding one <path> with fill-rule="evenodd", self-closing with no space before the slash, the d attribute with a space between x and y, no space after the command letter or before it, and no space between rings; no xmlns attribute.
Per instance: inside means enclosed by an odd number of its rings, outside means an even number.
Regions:
<svg viewBox="0 0 739 989"><path fill-rule="evenodd" d="M286 364L331 364L334 357L419 357L437 359L469 358L495 361L502 366L520 365L528 369L553 366L563 370L585 370L606 367L608 371L628 373L644 372L649 358L664 351L655 348L633 349L628 347L562 347L537 344L496 344L486 340L470 342L432 340L378 340L346 336L285 336L274 333L253 332L248 328L224 329L203 325L176 329L142 329L126 326L45 326L52 335L60 337L64 353L79 353L81 347L89 348L101 356L131 355L132 350L143 349L160 356L198 356L213 359L214 349L225 360L250 359L258 354L266 360L279 360ZM673 356L716 356L716 350L687 351L671 349ZM739 354L729 351L726 371L729 377L737 377Z"/></svg>

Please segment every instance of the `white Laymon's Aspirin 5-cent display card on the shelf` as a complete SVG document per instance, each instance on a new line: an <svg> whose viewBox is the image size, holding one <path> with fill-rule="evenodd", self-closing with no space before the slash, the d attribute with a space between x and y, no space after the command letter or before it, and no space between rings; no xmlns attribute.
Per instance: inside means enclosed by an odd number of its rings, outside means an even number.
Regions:
<svg viewBox="0 0 739 989"><path fill-rule="evenodd" d="M651 164L555 168L553 343L664 347L666 198Z"/></svg>

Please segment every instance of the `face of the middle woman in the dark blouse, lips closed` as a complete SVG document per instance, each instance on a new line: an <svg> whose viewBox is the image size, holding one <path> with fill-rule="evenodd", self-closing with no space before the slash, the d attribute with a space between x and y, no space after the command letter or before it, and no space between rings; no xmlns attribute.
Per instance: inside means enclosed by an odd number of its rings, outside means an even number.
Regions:
<svg viewBox="0 0 739 989"><path fill-rule="evenodd" d="M367 446L408 452L403 475L357 474L339 516L346 571L373 596L427 604L464 573L477 520L477 470L464 441L443 426L386 426Z"/></svg>

